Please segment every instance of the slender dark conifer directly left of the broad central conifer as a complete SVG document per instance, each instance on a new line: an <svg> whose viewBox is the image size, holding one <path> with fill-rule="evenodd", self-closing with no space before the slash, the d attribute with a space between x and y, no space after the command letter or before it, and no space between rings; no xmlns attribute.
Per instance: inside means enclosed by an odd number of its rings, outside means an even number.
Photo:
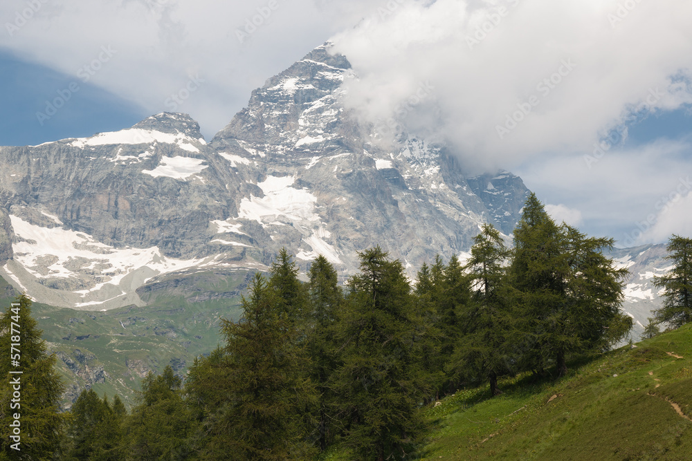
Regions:
<svg viewBox="0 0 692 461"><path fill-rule="evenodd" d="M309 276L311 329L307 344L311 359L311 379L317 386L319 445L325 451L331 440L329 422L334 420L336 398L329 386L329 380L336 370L334 323L343 304L343 293L338 286L336 270L324 256L318 256L311 265Z"/></svg>

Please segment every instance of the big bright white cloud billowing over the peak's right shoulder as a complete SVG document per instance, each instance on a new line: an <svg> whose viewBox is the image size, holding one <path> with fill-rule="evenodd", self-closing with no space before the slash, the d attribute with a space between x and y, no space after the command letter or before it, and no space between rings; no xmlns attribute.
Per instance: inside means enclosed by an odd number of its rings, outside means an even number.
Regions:
<svg viewBox="0 0 692 461"><path fill-rule="evenodd" d="M692 102L692 3L390 3L334 38L358 75L347 104L373 123L398 113L470 168L586 152L637 114ZM434 91L409 104L421 82Z"/></svg>

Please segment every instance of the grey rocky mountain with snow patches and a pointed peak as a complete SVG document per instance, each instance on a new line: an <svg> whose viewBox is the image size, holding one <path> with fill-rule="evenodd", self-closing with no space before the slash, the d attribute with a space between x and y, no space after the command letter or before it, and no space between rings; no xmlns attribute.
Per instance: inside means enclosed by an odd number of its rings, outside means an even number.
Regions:
<svg viewBox="0 0 692 461"><path fill-rule="evenodd" d="M461 254L482 223L509 234L527 196L506 171L466 177L415 133L375 142L343 106L346 57L320 46L251 95L210 142L188 115L0 147L0 275L38 301L145 305L170 274L264 270L281 247L341 276L380 245L411 274ZM140 289L140 290L138 290Z"/></svg>

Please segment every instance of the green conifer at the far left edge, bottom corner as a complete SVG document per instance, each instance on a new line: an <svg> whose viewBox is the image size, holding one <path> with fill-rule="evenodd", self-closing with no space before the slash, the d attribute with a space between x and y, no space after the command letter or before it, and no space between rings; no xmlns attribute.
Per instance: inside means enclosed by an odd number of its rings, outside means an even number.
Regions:
<svg viewBox="0 0 692 461"><path fill-rule="evenodd" d="M0 376L3 377L0 382L0 459L51 459L64 435L66 420L60 413L64 384L55 369L55 355L48 355L46 342L41 339L43 332L31 316L31 300L21 294L16 302L19 306L8 305L0 318L0 350L3 351L0 354ZM21 351L18 352L21 355L19 366L13 364L10 357L12 344L17 343ZM10 374L10 370L23 373ZM21 397L12 402L16 385L10 381L17 379ZM10 447L15 443L10 438L10 424L15 421L15 413L21 415L21 451Z"/></svg>

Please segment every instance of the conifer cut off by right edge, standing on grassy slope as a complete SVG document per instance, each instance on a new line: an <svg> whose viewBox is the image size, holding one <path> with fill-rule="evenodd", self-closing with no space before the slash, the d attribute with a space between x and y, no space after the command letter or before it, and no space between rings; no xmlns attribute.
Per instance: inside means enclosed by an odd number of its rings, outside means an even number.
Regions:
<svg viewBox="0 0 692 461"><path fill-rule="evenodd" d="M679 328L692 321L692 238L673 235L667 249L673 269L654 277L654 285L665 290L664 303L654 314L657 323Z"/></svg>

